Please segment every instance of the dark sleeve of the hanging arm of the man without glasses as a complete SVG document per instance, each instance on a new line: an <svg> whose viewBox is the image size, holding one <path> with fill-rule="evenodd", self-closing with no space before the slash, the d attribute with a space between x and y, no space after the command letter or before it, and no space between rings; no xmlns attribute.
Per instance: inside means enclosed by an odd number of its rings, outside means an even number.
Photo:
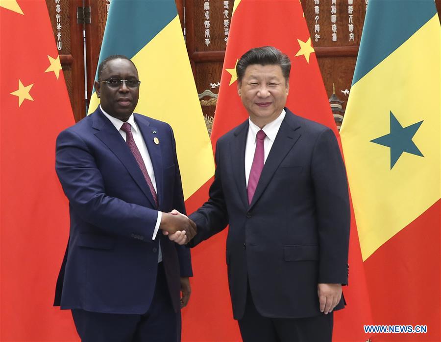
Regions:
<svg viewBox="0 0 441 342"><path fill-rule="evenodd" d="M330 129L316 140L311 166L319 232L319 283L347 284L350 208L346 171Z"/></svg>

